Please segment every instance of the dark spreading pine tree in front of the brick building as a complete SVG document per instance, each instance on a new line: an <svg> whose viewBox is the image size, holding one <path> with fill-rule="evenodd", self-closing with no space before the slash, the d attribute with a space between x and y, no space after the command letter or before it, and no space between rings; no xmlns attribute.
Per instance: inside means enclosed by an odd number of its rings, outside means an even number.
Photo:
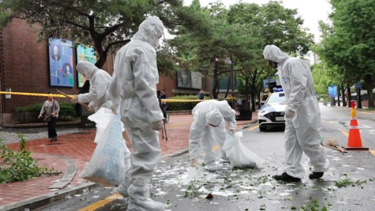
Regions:
<svg viewBox="0 0 375 211"><path fill-rule="evenodd" d="M199 22L182 0L0 1L0 28L12 18L38 23L40 39L71 38L75 43L94 46L99 68L111 49L130 41L146 15L159 16L171 30L176 25L190 29Z"/></svg>

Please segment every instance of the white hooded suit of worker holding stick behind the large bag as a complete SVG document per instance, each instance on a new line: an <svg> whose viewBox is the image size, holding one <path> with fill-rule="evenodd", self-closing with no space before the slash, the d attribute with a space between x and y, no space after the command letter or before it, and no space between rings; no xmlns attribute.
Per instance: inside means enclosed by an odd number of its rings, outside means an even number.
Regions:
<svg viewBox="0 0 375 211"><path fill-rule="evenodd" d="M107 88L111 76L94 64L87 61L80 61L77 64L77 71L90 81L90 90L88 93L79 94L78 101L90 102L90 109L97 112L104 107L111 109L111 101L109 100Z"/></svg>

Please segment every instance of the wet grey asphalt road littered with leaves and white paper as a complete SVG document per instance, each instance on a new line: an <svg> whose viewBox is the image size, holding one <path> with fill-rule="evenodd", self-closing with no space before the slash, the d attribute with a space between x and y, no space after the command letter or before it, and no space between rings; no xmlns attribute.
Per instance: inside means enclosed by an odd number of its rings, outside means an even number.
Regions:
<svg viewBox="0 0 375 211"><path fill-rule="evenodd" d="M345 146L350 110L321 106L321 113L322 140L335 139ZM357 116L363 145L375 149L375 115L357 113ZM284 133L260 132L256 124L242 131L243 143L265 160L259 168L241 170L218 162L221 171L210 173L202 165L190 168L188 154L172 157L161 161L155 171L152 198L164 202L170 211L311 211L307 206L314 202L320 206L318 211L323 206L328 211L374 210L375 157L368 151L340 153L325 148L331 169L320 180L308 178L311 170L304 155L305 177L299 183L285 184L272 179L283 170ZM108 197L111 190L96 187L41 210L78 211ZM208 193L212 193L212 199L205 198ZM97 211L125 211L126 206L127 197L99 206Z"/></svg>

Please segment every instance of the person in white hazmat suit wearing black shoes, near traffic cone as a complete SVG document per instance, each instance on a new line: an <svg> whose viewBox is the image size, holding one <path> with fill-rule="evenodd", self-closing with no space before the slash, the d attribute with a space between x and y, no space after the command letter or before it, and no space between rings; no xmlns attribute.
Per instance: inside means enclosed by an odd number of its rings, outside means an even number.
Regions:
<svg viewBox="0 0 375 211"><path fill-rule="evenodd" d="M272 67L277 67L287 107L285 110L285 166L284 173L275 175L276 180L300 181L304 176L301 157L304 152L313 166L310 179L323 176L330 167L320 146L320 110L314 97L315 89L309 64L299 58L291 58L275 45L267 45L263 56Z"/></svg>

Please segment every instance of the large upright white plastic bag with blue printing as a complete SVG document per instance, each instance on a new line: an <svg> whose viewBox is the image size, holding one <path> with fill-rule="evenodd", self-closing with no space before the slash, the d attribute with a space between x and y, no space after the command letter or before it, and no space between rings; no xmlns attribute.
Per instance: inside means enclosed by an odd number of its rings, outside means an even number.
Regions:
<svg viewBox="0 0 375 211"><path fill-rule="evenodd" d="M80 177L104 186L117 187L128 176L130 167L130 151L123 138L124 124L119 115L106 108L101 108L88 119L96 122L95 142L98 145Z"/></svg>

